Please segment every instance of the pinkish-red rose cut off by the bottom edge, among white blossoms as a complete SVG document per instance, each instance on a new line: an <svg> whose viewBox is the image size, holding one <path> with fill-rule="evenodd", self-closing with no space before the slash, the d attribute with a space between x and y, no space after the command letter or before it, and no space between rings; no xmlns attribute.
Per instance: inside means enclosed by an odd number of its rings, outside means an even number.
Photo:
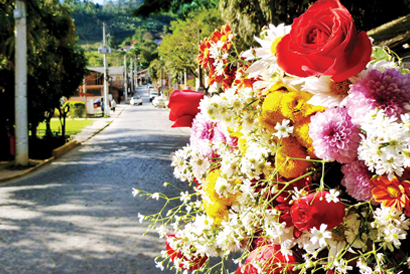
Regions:
<svg viewBox="0 0 410 274"><path fill-rule="evenodd" d="M269 244L256 248L246 258L244 271L242 272L242 267L238 267L236 274L258 274L258 269L252 265L254 263L262 267L263 273L297 273L297 271L292 271L296 263L295 257L289 255L286 259L280 252L280 245ZM286 268L286 271L283 271L284 268Z"/></svg>

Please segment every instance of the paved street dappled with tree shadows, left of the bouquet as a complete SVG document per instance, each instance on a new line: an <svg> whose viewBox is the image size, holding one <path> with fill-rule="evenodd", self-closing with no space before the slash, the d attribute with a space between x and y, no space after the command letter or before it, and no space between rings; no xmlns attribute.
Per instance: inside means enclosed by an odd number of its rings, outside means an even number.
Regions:
<svg viewBox="0 0 410 274"><path fill-rule="evenodd" d="M134 198L132 188L169 195L171 154L188 128L171 128L147 89L142 106L127 106L110 126L81 146L18 180L0 184L0 273L160 273L164 248L145 237L149 214L162 203ZM164 271L161 273L174 273Z"/></svg>

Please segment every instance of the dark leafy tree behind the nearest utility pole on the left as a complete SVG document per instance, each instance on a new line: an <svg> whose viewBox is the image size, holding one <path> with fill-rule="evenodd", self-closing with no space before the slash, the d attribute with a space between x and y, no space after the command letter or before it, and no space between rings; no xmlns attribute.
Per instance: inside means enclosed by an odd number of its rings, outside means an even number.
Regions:
<svg viewBox="0 0 410 274"><path fill-rule="evenodd" d="M14 20L13 0L0 1L0 85L5 108L0 117L0 138L14 125ZM70 8L58 0L27 1L28 117L32 137L39 122L70 97L81 84L86 59L75 46L75 27ZM3 146L4 139L0 140Z"/></svg>

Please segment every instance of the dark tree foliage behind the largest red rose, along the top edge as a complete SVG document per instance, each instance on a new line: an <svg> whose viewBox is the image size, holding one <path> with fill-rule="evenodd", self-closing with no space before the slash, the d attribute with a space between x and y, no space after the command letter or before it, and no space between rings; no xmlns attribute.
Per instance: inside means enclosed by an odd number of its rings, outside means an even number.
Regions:
<svg viewBox="0 0 410 274"><path fill-rule="evenodd" d="M257 46L253 37L259 36L268 24L291 25L316 0L220 0L222 18L238 35L239 48ZM350 11L358 30L370 30L390 20L410 13L409 0L340 0Z"/></svg>

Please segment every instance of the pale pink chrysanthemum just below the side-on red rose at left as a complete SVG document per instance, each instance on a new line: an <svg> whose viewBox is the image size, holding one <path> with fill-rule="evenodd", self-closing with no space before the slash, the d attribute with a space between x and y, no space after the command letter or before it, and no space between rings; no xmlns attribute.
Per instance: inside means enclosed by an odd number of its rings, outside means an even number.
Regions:
<svg viewBox="0 0 410 274"><path fill-rule="evenodd" d="M192 149L203 155L213 153L212 144L226 142L226 136L217 123L198 113L192 121L190 143Z"/></svg>

